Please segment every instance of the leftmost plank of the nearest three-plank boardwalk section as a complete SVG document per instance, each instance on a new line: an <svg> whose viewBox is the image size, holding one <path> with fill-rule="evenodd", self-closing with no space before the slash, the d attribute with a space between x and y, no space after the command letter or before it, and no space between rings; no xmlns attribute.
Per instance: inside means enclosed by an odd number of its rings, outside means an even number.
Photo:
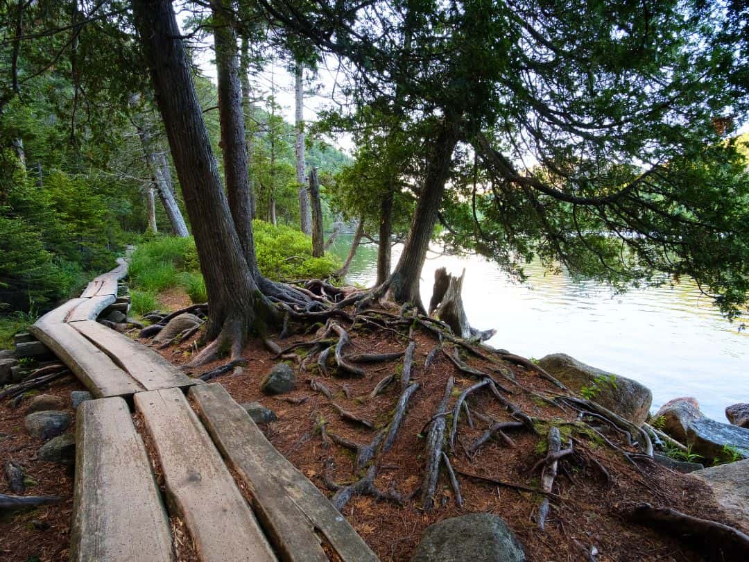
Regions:
<svg viewBox="0 0 749 562"><path fill-rule="evenodd" d="M71 561L172 561L151 462L121 398L83 402L76 420Z"/></svg>

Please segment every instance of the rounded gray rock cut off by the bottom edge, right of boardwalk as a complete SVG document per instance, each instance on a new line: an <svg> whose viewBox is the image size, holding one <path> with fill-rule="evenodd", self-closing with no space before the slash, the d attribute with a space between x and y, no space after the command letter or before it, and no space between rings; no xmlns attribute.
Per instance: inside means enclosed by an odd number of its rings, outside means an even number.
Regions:
<svg viewBox="0 0 749 562"><path fill-rule="evenodd" d="M411 562L522 562L523 547L491 513L471 513L430 525Z"/></svg>

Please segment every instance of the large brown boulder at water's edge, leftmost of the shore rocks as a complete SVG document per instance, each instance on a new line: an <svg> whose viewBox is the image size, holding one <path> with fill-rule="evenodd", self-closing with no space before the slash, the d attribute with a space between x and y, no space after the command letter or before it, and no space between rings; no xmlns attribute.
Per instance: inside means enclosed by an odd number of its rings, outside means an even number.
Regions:
<svg viewBox="0 0 749 562"><path fill-rule="evenodd" d="M642 426L650 411L652 393L650 389L631 378L586 365L563 353L547 355L539 360L539 366L557 377L565 385L604 408Z"/></svg>

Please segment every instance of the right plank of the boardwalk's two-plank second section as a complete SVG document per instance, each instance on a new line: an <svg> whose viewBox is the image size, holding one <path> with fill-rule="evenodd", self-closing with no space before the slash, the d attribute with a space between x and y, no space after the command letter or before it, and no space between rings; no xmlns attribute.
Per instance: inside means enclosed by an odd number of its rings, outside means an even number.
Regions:
<svg viewBox="0 0 749 562"><path fill-rule="evenodd" d="M188 387L197 383L153 349L98 322L86 320L70 325L109 355L147 390Z"/></svg>

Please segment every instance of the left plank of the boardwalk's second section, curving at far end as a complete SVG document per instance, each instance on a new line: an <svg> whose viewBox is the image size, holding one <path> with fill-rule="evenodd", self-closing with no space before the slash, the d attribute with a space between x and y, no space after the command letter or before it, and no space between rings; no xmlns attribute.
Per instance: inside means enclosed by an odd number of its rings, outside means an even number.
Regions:
<svg viewBox="0 0 749 562"><path fill-rule="evenodd" d="M50 348L96 398L129 396L144 390L75 328L55 323L52 321L55 318L44 316L28 330Z"/></svg>

